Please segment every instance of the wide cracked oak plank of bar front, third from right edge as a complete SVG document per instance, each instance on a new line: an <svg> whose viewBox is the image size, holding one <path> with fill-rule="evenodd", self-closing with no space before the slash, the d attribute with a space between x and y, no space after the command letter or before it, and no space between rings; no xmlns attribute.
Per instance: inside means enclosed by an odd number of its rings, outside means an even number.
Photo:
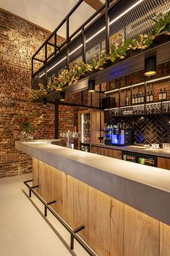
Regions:
<svg viewBox="0 0 170 256"><path fill-rule="evenodd" d="M122 202L88 186L88 244L98 255L123 256L123 221Z"/></svg>

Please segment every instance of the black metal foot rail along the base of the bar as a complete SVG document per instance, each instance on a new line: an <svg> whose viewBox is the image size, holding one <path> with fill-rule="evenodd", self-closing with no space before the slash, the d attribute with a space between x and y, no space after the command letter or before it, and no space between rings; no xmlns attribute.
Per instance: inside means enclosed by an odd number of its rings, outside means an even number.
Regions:
<svg viewBox="0 0 170 256"><path fill-rule="evenodd" d="M70 249L74 249L74 239L82 246L83 249L85 249L86 252L88 252L88 254L90 256L97 256L97 254L95 252L93 252L93 250L88 246L88 244L85 243L85 241L83 241L80 236L77 236L77 233L82 231L82 229L85 229L85 226L80 226L76 229L72 229L70 228L70 226L59 216L59 214L57 214L53 208L51 208L51 204L56 203L56 200L51 201L51 202L46 202L39 194L37 191L35 191L35 188L38 188L38 185L36 186L30 186L27 183L32 182L33 180L28 180L28 181L24 181L25 186L27 186L27 188L29 189L29 197L31 197L31 193L33 192L33 194L35 194L35 197L37 197L44 205L44 216L47 216L47 210L49 210L52 215L54 215L54 217L59 220L59 222L62 224L62 226L64 226L64 228L67 229L67 231L69 231L70 234Z"/></svg>

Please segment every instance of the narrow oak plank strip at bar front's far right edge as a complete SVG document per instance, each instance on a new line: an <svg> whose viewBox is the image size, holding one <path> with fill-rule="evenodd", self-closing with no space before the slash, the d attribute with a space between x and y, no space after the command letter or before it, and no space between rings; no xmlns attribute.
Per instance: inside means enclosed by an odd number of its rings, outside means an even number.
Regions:
<svg viewBox="0 0 170 256"><path fill-rule="evenodd" d="M160 256L170 256L170 226L160 223Z"/></svg>

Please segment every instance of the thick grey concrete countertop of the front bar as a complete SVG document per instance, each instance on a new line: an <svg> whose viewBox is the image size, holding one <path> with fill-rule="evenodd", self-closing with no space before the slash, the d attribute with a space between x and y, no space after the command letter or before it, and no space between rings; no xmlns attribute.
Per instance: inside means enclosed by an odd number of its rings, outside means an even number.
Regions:
<svg viewBox="0 0 170 256"><path fill-rule="evenodd" d="M170 171L40 141L16 148L170 225Z"/></svg>

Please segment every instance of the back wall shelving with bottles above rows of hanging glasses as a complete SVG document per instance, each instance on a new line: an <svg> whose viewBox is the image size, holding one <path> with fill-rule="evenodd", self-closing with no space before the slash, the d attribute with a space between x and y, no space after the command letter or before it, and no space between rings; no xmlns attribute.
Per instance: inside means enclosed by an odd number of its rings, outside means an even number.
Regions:
<svg viewBox="0 0 170 256"><path fill-rule="evenodd" d="M114 116L169 113L169 78L166 75L106 91L105 94L112 94L117 101L111 112Z"/></svg>

